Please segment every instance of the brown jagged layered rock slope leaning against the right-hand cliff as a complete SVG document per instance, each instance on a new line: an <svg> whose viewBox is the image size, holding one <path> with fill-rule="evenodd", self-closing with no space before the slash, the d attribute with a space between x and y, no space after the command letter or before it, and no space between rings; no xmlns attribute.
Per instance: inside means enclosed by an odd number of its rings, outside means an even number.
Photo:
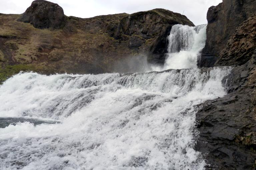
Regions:
<svg viewBox="0 0 256 170"><path fill-rule="evenodd" d="M250 60L256 48L256 13L244 21L221 51L216 66L242 65Z"/></svg>

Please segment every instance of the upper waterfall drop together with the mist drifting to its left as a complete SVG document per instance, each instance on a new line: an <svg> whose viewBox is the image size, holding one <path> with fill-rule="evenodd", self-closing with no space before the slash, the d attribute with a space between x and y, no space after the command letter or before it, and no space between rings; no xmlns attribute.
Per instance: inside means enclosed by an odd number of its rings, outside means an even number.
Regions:
<svg viewBox="0 0 256 170"><path fill-rule="evenodd" d="M114 72L142 73L167 69L197 68L197 60L206 42L206 26L190 27L174 25L168 36L168 47L164 65L155 65L147 61L145 55L128 57L118 61Z"/></svg>

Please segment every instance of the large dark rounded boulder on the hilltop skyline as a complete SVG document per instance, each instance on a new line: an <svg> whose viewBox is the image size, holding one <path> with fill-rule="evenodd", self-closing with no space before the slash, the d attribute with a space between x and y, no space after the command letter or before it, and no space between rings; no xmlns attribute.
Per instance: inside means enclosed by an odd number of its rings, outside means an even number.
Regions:
<svg viewBox="0 0 256 170"><path fill-rule="evenodd" d="M45 0L35 0L18 21L31 23L39 29L58 29L64 25L65 15L58 4Z"/></svg>

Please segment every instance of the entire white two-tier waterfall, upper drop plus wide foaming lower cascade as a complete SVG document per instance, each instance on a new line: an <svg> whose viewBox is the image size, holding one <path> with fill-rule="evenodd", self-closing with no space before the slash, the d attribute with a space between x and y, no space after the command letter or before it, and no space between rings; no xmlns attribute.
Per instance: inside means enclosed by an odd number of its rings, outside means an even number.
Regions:
<svg viewBox="0 0 256 170"><path fill-rule="evenodd" d="M205 29L173 26L170 70L9 78L0 86L0 169L204 169L197 106L226 94L231 70L197 68Z"/></svg>

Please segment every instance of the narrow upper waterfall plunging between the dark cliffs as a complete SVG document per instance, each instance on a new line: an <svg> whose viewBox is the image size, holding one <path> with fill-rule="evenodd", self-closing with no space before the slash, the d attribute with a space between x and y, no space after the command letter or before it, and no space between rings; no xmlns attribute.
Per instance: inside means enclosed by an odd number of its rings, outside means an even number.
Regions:
<svg viewBox="0 0 256 170"><path fill-rule="evenodd" d="M205 46L206 25L174 25L168 40L168 56L163 70L196 68L197 57Z"/></svg>

